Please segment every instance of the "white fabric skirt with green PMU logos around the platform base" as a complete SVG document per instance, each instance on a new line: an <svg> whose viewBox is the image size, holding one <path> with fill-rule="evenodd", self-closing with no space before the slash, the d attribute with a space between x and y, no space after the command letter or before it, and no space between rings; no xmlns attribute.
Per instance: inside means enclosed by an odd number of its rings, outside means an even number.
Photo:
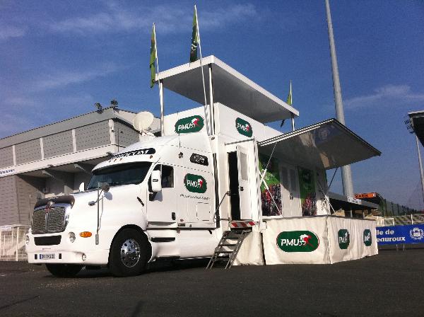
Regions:
<svg viewBox="0 0 424 317"><path fill-rule="evenodd" d="M261 265L261 246L267 265L327 264L378 254L375 221L371 220L331 216L269 219L261 235L249 234L235 265Z"/></svg>

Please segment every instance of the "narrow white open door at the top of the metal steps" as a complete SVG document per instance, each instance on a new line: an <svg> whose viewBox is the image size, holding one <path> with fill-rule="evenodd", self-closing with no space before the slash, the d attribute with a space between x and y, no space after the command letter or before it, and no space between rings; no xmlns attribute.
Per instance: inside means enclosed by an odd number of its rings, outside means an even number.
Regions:
<svg viewBox="0 0 424 317"><path fill-rule="evenodd" d="M252 197L247 146L237 145L238 193L240 197L240 219L252 219Z"/></svg>

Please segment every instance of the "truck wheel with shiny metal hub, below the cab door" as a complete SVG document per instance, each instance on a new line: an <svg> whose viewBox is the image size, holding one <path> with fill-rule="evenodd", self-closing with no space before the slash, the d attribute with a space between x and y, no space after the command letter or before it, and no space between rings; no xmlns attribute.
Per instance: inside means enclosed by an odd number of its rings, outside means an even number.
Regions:
<svg viewBox="0 0 424 317"><path fill-rule="evenodd" d="M135 229L124 229L115 236L109 253L109 270L116 277L140 275L146 270L150 245Z"/></svg>

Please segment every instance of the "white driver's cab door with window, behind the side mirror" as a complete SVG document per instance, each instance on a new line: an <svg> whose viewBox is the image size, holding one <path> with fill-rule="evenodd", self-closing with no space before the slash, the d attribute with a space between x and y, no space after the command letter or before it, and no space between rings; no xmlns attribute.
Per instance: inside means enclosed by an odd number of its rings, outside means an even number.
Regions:
<svg viewBox="0 0 424 317"><path fill-rule="evenodd" d="M156 165L155 170L162 167L162 191L151 191L151 179L148 185L147 219L148 226L169 227L177 220L177 192L175 190L174 166Z"/></svg>

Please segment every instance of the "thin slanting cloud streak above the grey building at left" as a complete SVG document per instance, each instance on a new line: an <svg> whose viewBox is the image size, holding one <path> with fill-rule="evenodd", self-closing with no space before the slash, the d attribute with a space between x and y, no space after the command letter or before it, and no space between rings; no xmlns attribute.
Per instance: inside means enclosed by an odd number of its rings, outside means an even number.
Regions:
<svg viewBox="0 0 424 317"><path fill-rule="evenodd" d="M64 71L57 72L56 74L51 74L46 76L45 79L40 79L33 86L32 91L45 91L47 89L59 88L67 86L71 83L82 83L84 81L90 81L97 77L107 76L108 74L119 71L123 67L118 67L117 65L105 64L102 67L97 69L90 69L88 71Z"/></svg>

